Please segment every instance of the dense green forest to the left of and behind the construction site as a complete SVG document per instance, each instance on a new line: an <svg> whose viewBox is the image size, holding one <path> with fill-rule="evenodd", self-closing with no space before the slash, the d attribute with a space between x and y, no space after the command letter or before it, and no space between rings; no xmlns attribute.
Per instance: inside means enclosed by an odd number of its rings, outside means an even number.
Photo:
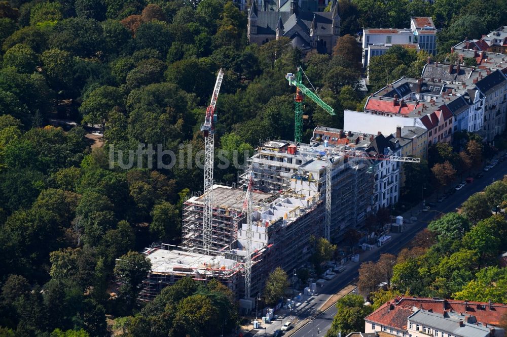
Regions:
<svg viewBox="0 0 507 337"><path fill-rule="evenodd" d="M299 65L338 111L330 116L307 101L308 140L316 125L342 127L343 109L362 105L361 51L348 34L433 15L444 28L442 56L445 43L477 37L507 15L502 0L339 6L344 36L333 55L302 55L285 38L248 45L246 14L225 0L0 2L0 334L103 336L115 324L126 335L198 336L234 327L232 295L215 283L183 282L147 306L135 303L139 270L149 268L136 252L179 243L181 205L202 189L202 171L193 160L155 170L146 156L125 170L112 167L110 150L160 144L188 148L183 160L192 159L203 147L199 127L220 68L218 149L251 152L259 140L292 139L294 89L284 75ZM386 72L394 63L385 63L378 85L393 73L416 75L426 57L389 55L403 67ZM103 144L93 131L103 132ZM233 183L237 170L215 170L215 180ZM110 297L115 273L126 282ZM211 322L217 313L223 320ZM106 321L106 314L125 318Z"/></svg>

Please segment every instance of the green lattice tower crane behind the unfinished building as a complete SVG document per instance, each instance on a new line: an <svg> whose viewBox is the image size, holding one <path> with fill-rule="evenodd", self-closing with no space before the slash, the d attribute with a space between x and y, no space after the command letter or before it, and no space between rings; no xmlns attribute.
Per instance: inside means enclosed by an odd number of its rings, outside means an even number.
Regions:
<svg viewBox="0 0 507 337"><path fill-rule="evenodd" d="M295 74L288 73L285 75L285 78L288 80L289 86L296 87L296 97L294 98L295 105L295 117L294 117L294 141L301 142L303 140L303 99L304 96L309 97L312 101L314 101L319 107L327 111L330 115L335 114L335 110L329 105L325 104L324 101L318 97L317 94L312 92L310 89L306 88L303 85L302 74L305 72L301 66L298 67L298 70ZM306 74L305 74L306 77ZM308 77L306 77L308 79ZM309 81L309 80L308 80ZM311 83L310 83L311 85Z"/></svg>

